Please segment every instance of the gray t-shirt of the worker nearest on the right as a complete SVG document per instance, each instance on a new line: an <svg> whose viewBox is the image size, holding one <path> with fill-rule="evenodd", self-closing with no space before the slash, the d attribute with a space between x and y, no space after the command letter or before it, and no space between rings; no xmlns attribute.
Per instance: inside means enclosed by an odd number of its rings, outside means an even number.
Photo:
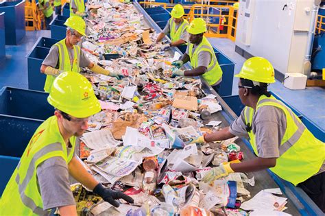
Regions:
<svg viewBox="0 0 325 216"><path fill-rule="evenodd" d="M252 131L255 134L258 157L278 158L280 156L279 147L286 128L287 119L280 108L274 106L261 106L261 108L258 108L252 121ZM248 137L243 111L241 116L232 122L229 131L235 136Z"/></svg>

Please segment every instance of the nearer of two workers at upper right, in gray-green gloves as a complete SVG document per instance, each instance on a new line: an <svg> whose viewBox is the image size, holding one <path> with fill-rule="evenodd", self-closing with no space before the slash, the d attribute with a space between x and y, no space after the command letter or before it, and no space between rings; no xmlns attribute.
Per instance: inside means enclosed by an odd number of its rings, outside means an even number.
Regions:
<svg viewBox="0 0 325 216"><path fill-rule="evenodd" d="M187 32L189 32L189 44L186 53L183 54L180 60L172 62L172 65L178 68L172 70L173 77L202 75L204 80L218 92L222 70L213 47L203 35L206 32L206 22L202 18L193 19L187 28ZM180 67L188 61L191 62L193 69L180 70Z"/></svg>

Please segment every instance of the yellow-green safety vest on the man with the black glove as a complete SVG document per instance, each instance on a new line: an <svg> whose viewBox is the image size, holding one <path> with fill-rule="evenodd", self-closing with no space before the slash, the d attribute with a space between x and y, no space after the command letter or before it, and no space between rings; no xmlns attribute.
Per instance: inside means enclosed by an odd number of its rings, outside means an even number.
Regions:
<svg viewBox="0 0 325 216"><path fill-rule="evenodd" d="M3 191L0 215L48 215L49 211L43 210L36 169L45 160L53 157L62 157L68 164L73 158L75 140L75 136L69 139L72 148L68 153L67 144L60 134L58 119L53 116L44 121L29 141Z"/></svg>

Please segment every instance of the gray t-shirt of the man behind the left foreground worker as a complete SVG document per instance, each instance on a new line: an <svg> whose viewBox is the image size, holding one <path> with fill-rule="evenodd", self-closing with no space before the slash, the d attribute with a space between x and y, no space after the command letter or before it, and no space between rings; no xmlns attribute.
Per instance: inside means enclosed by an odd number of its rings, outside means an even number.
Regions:
<svg viewBox="0 0 325 216"><path fill-rule="evenodd" d="M70 64L72 67L73 64L73 58L75 56L74 50L67 47L69 58L70 58ZM43 63L47 66L51 66L53 68L58 69L59 68L59 49L58 46L52 46L51 49L49 49L49 53L47 54L45 60L43 60ZM83 50L80 50L80 65L79 67L88 67L88 65L91 64L91 60L89 60L84 53Z"/></svg>

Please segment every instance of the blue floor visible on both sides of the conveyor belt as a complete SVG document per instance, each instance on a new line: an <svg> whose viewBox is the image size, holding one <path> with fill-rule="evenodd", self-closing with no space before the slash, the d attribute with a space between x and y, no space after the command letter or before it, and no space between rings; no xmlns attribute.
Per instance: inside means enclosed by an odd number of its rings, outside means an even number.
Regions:
<svg viewBox="0 0 325 216"><path fill-rule="evenodd" d="M51 38L50 31L26 32L25 38L18 46L6 46L6 58L0 61L0 88L13 86L28 88L27 58L29 51L39 37ZM209 38L210 42L235 63L234 74L239 73L245 58L234 51L234 43L224 38ZM237 95L238 78L234 77L232 95ZM322 130L325 130L325 89L319 87L307 87L304 90L290 90L280 82L269 86L288 104L302 112Z"/></svg>

